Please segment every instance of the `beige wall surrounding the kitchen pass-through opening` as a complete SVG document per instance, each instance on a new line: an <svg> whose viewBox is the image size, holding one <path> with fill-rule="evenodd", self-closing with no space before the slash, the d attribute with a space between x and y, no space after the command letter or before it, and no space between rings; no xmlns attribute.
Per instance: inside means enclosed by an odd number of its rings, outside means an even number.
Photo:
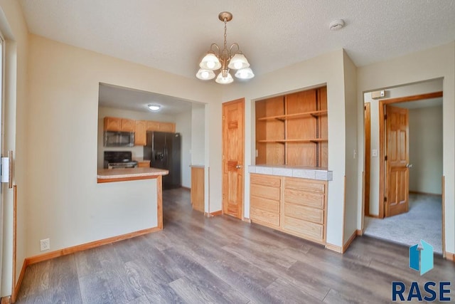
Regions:
<svg viewBox="0 0 455 304"><path fill-rule="evenodd" d="M50 238L54 251L154 226L154 181L96 182L98 144L93 131L98 125L99 83L208 103L210 148L213 145L215 151L221 145L217 87L39 36L32 35L29 43L33 115L28 145L33 149L27 154L26 256L39 254L39 240L44 238ZM210 183L220 184L218 154L209 164Z"/></svg>

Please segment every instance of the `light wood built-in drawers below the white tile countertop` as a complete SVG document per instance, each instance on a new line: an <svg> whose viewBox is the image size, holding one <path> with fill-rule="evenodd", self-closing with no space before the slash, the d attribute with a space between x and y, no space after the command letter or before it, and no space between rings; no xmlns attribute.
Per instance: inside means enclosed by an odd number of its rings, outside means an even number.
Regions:
<svg viewBox="0 0 455 304"><path fill-rule="evenodd" d="M250 177L253 223L326 243L326 181L267 174Z"/></svg>

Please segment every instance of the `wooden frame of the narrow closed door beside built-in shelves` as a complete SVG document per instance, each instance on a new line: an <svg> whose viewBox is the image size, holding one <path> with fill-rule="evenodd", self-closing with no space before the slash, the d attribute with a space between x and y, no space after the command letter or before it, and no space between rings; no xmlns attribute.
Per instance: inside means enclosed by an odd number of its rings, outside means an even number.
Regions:
<svg viewBox="0 0 455 304"><path fill-rule="evenodd" d="M241 199L240 203L242 204L242 211L240 215L240 219L242 221L245 221L245 98L239 98L236 100L230 100L225 103L221 104L221 211L224 214L225 210L225 163L224 163L224 152L225 152L225 140L224 140L224 135L225 135L225 122L224 122L224 115L225 115L225 106L227 105L233 105L235 103L240 103L241 104L241 112L242 112L242 159L241 159L241 164L242 168L240 168L241 172L240 174L242 175L242 182L240 185L238 185L239 193L241 194Z"/></svg>

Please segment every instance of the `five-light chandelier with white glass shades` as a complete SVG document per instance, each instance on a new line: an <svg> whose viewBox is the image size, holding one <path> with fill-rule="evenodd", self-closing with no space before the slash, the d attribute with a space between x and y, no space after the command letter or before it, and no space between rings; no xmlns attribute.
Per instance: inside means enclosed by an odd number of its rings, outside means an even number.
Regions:
<svg viewBox="0 0 455 304"><path fill-rule="evenodd" d="M250 63L247 58L240 51L238 43L232 43L228 48L226 43L226 23L232 20L232 14L228 11L222 11L218 15L218 19L225 23L225 41L223 49L220 49L218 44L212 43L210 51L204 56L202 61L199 63L200 69L196 74L196 77L200 80L210 80L215 78L215 70L220 70L218 77L215 79L217 83L228 84L234 81L234 78L230 75L229 71L237 70L235 77L239 79L250 79L255 77L255 74L251 70Z"/></svg>

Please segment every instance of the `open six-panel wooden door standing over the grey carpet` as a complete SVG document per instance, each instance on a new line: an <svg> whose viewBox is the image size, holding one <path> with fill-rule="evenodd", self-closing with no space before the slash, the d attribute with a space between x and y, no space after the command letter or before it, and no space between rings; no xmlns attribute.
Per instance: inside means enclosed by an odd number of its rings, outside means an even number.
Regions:
<svg viewBox="0 0 455 304"><path fill-rule="evenodd" d="M409 125L408 110L386 105L385 216L409 210Z"/></svg>

